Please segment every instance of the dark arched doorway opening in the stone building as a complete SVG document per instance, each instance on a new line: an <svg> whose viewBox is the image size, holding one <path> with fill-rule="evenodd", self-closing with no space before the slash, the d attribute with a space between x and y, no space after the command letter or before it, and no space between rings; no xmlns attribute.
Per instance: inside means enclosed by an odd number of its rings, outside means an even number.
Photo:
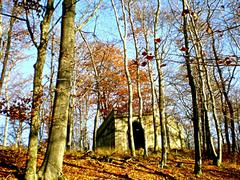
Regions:
<svg viewBox="0 0 240 180"><path fill-rule="evenodd" d="M135 149L138 150L140 148L144 148L145 142L144 142L144 131L142 128L142 125L138 121L134 121L132 123L133 126L133 139L135 144ZM130 147L130 138L129 138L129 148Z"/></svg>

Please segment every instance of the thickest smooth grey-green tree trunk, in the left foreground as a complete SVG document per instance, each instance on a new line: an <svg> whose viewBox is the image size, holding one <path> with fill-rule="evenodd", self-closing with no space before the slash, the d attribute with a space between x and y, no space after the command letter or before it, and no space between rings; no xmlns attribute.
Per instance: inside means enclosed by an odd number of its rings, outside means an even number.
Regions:
<svg viewBox="0 0 240 180"><path fill-rule="evenodd" d="M48 144L49 154L43 179L58 179L62 176L63 155L66 145L67 121L71 78L74 69L75 47L75 2L64 0L62 8L61 46L59 55L56 94L53 107L53 122Z"/></svg>

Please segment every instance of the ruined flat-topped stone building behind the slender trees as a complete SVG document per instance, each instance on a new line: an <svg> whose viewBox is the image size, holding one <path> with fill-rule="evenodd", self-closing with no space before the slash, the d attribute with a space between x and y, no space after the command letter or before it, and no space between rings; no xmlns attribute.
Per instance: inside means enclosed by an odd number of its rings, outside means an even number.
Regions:
<svg viewBox="0 0 240 180"><path fill-rule="evenodd" d="M161 146L159 118L157 118L157 141ZM143 127L137 116L133 117L133 135L136 149L144 147ZM152 114L143 116L143 125L146 131L148 148L154 147L154 126ZM184 144L184 130L177 125L173 118L167 118L168 144L170 148L180 149ZM97 130L97 148L126 151L129 149L128 118L112 111Z"/></svg>

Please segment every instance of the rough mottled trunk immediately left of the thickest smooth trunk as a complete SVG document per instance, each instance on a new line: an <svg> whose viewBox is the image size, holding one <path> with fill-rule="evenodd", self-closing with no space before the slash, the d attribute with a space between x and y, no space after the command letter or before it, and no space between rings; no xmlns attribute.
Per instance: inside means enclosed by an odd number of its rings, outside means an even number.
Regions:
<svg viewBox="0 0 240 180"><path fill-rule="evenodd" d="M39 131L39 113L42 104L42 74L45 64L47 44L49 36L49 26L53 13L53 0L49 0L47 4L46 14L41 23L40 44L37 47L37 62L34 65L34 80L33 80L33 102L32 102L32 116L30 124L30 135L28 145L28 162L26 166L25 179L36 179L37 172L37 150L38 150L38 131Z"/></svg>

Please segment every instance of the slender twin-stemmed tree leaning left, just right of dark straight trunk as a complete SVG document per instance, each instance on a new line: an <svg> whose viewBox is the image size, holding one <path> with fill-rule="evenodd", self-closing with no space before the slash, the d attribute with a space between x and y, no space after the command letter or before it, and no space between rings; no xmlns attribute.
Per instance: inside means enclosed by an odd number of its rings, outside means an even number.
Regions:
<svg viewBox="0 0 240 180"><path fill-rule="evenodd" d="M220 125L219 125L219 119L218 119L218 114L216 111L216 100L212 88L212 83L209 75L209 69L207 67L207 62L205 60L205 57L203 55L203 44L202 40L200 39L200 33L198 31L198 28L195 24L197 21L196 18L194 18L194 11L192 8L188 6L188 10L191 12L191 16L189 16L189 24L190 24L190 36L192 39L194 51L196 54L196 61L197 61L197 72L200 80L200 96L202 96L202 108L203 108L203 118L202 121L205 123L205 130L206 130L206 143L207 143L207 153L209 153L209 157L213 159L213 163L217 166L220 166L221 161L222 161L222 139L221 139L221 130L220 130ZM207 102L207 97L206 97L206 88L209 92L209 99L211 101L210 107L213 115L213 119L215 122L216 126L216 132L217 132L217 137L218 137L218 153L215 151L214 144L212 142L212 136L211 136L211 128L210 128L210 118L209 118L209 113L208 113L208 102Z"/></svg>

